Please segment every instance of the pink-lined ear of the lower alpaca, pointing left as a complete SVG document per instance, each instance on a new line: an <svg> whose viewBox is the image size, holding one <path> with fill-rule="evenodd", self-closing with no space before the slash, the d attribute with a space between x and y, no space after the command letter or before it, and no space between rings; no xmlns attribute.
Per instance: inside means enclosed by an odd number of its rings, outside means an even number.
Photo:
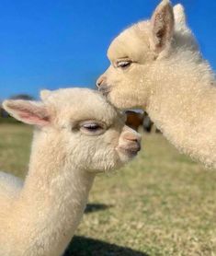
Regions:
<svg viewBox="0 0 216 256"><path fill-rule="evenodd" d="M35 124L40 127L50 123L48 111L41 102L23 99L5 100L3 108L21 122Z"/></svg>

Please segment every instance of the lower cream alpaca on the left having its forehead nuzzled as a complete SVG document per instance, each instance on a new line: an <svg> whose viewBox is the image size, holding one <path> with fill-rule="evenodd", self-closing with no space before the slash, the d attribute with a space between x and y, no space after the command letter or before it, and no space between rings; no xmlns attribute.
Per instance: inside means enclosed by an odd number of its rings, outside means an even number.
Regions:
<svg viewBox="0 0 216 256"><path fill-rule="evenodd" d="M37 128L24 184L0 173L2 256L61 255L97 172L119 168L140 149L141 136L97 91L45 91L42 99L3 104L17 120Z"/></svg>

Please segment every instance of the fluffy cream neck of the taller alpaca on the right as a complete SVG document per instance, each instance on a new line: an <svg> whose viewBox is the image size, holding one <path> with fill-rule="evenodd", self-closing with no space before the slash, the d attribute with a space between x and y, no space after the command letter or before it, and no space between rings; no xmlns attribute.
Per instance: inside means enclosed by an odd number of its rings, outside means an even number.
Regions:
<svg viewBox="0 0 216 256"><path fill-rule="evenodd" d="M216 166L216 87L209 64L199 54L179 53L158 62L150 87L146 111L156 126L178 149Z"/></svg>

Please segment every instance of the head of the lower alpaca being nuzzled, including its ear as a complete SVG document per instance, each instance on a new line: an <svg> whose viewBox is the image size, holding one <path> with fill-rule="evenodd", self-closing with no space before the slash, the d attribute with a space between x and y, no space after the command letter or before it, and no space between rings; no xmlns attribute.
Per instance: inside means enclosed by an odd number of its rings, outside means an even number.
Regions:
<svg viewBox="0 0 216 256"><path fill-rule="evenodd" d="M119 168L140 150L140 134L97 91L66 88L42 91L41 101L6 100L21 122L37 126L34 144L67 166L90 171ZM33 145L34 148L34 145Z"/></svg>

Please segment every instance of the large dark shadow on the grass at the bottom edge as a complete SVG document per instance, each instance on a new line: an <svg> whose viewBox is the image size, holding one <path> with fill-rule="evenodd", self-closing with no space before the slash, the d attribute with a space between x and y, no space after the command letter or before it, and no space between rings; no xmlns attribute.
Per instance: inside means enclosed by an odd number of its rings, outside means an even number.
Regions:
<svg viewBox="0 0 216 256"><path fill-rule="evenodd" d="M149 256L148 254L97 239L75 236L63 256Z"/></svg>

